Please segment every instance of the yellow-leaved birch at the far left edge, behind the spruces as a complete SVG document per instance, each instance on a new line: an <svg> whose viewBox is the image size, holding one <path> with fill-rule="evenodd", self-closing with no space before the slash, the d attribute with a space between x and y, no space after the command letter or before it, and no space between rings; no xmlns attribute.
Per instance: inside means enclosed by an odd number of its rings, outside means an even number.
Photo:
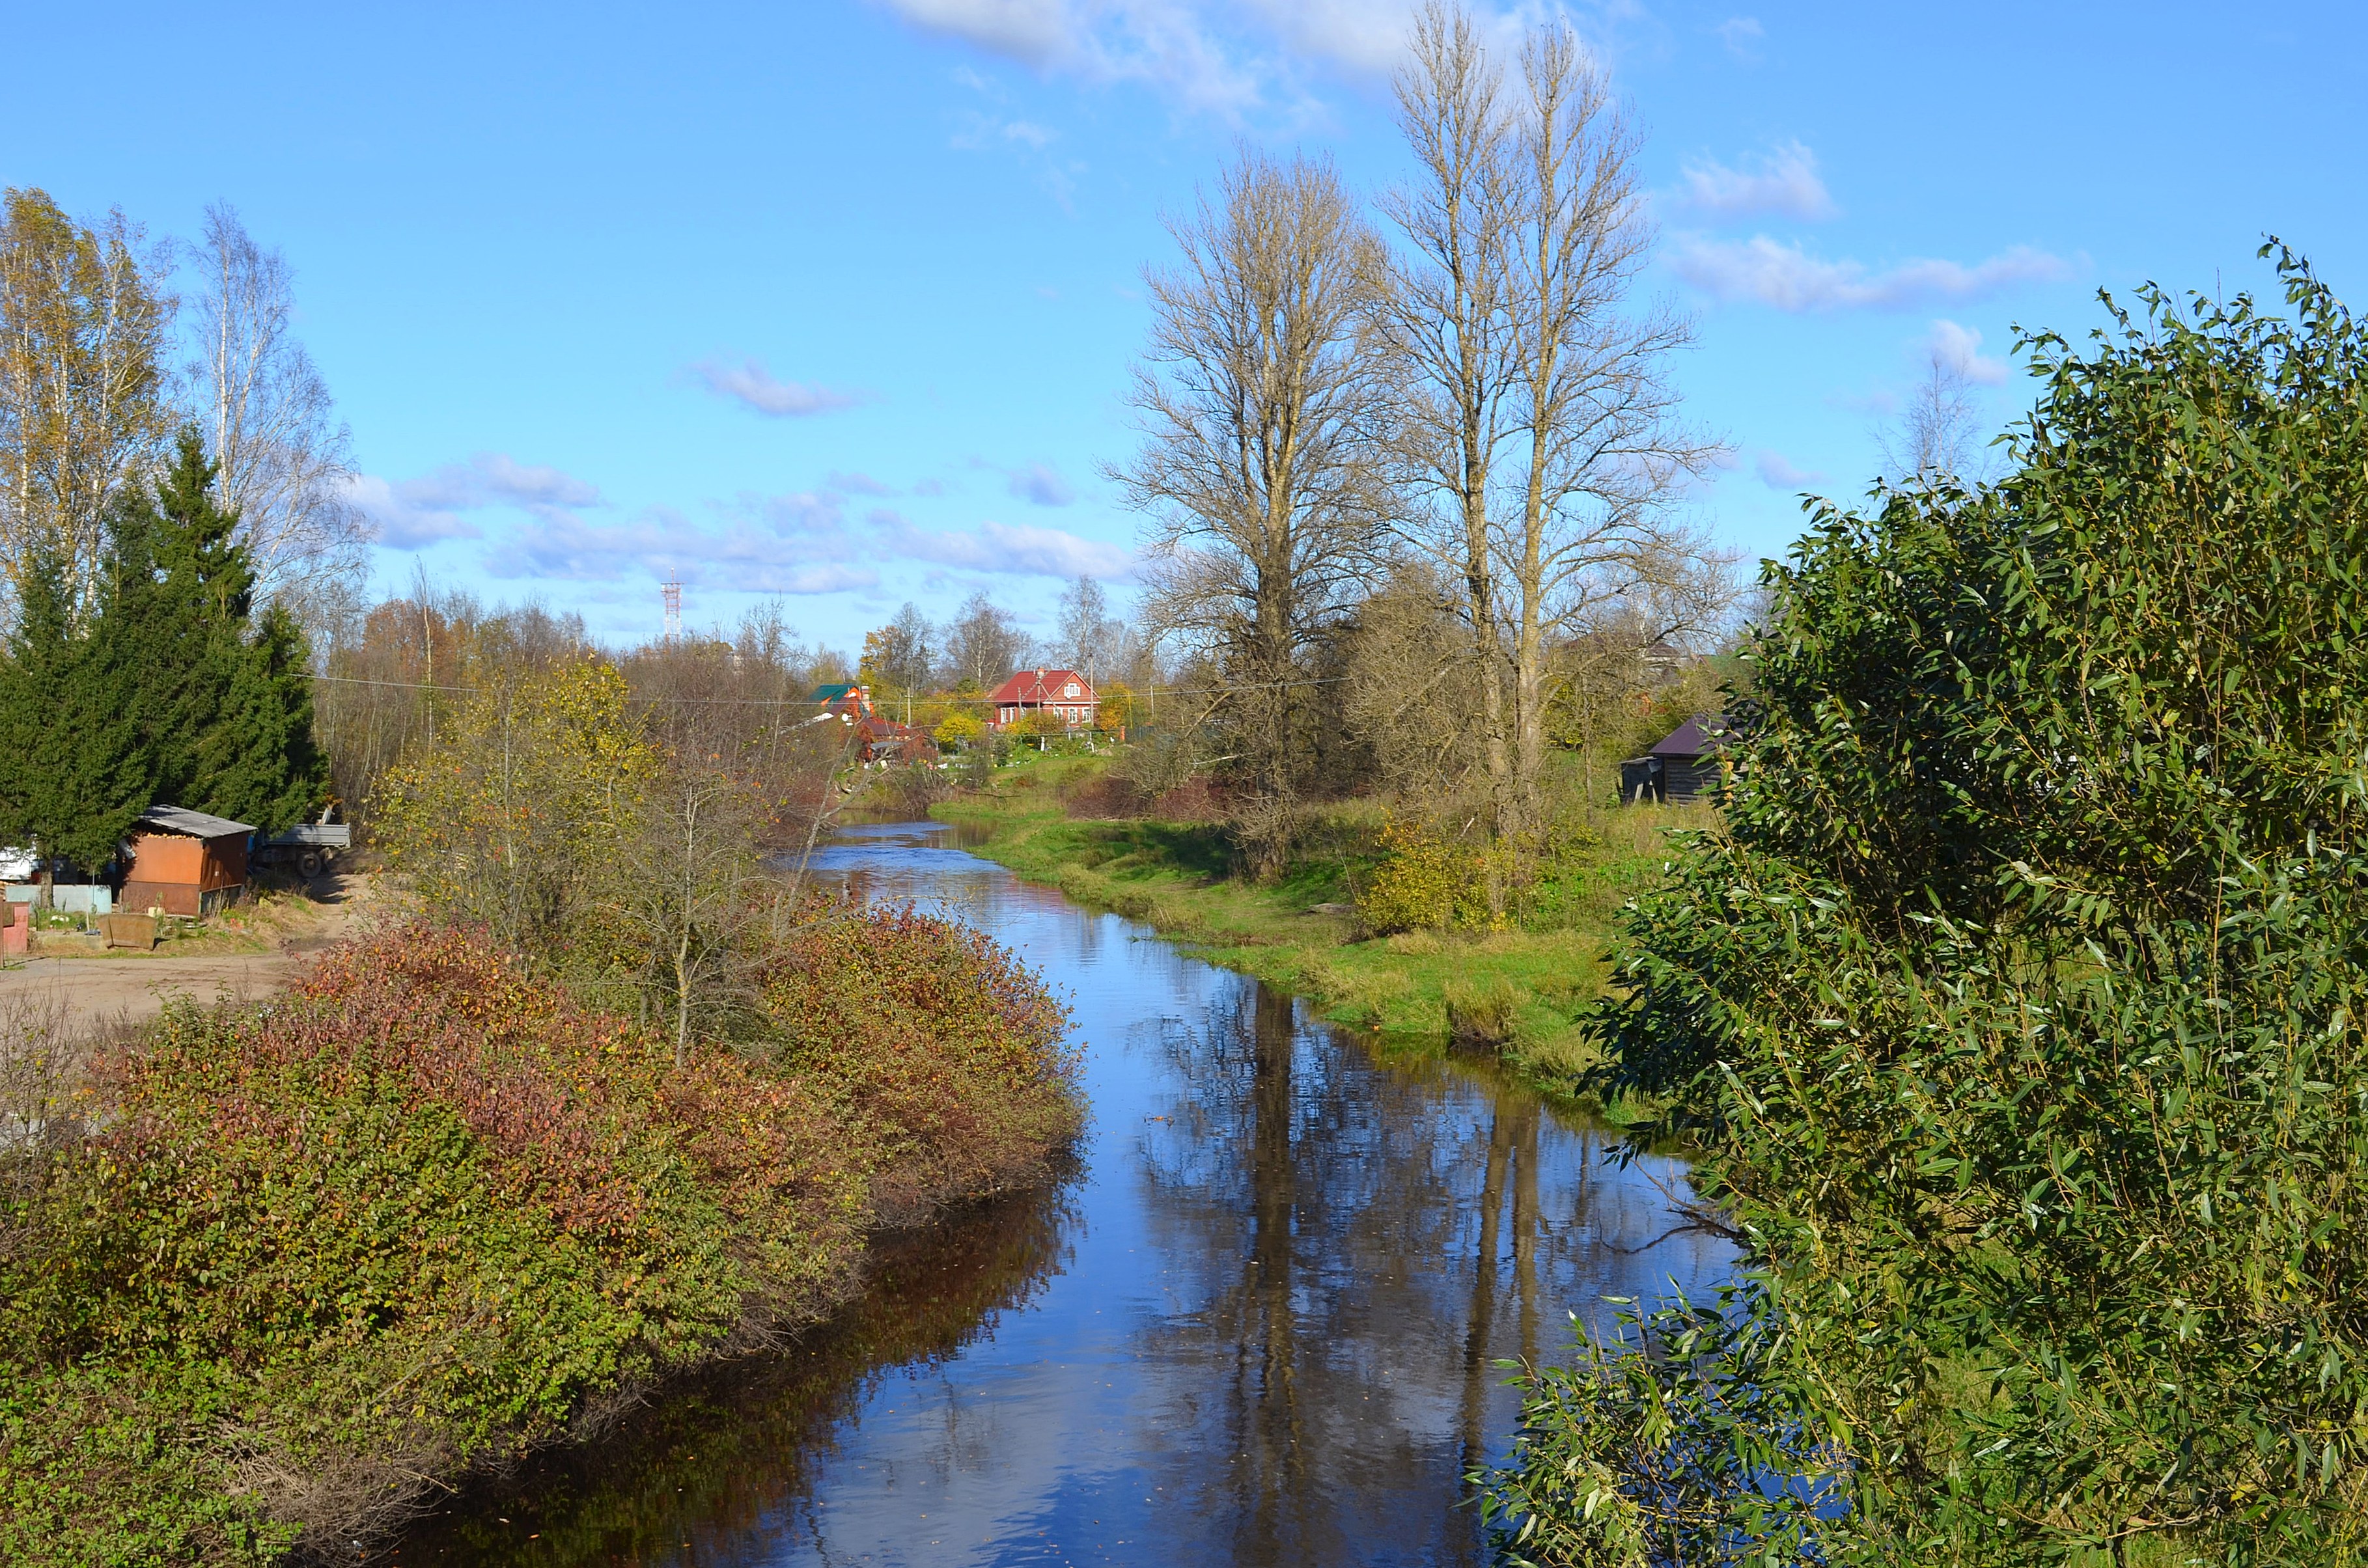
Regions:
<svg viewBox="0 0 2368 1568"><path fill-rule="evenodd" d="M40 189L0 208L0 571L14 604L36 554L54 552L83 616L107 502L173 429L173 298L121 211L73 223Z"/></svg>

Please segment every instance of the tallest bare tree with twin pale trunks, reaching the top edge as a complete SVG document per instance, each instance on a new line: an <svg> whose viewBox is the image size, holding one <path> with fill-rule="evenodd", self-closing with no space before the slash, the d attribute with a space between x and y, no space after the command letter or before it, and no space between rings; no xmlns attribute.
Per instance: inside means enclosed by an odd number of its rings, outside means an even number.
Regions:
<svg viewBox="0 0 2368 1568"><path fill-rule="evenodd" d="M1397 78L1416 175L1383 308L1414 379L1407 538L1463 587L1497 831L1542 827L1558 642L1608 604L1717 602L1724 571L1674 500L1719 448L1677 422L1691 324L1629 310L1653 230L1636 140L1568 26L1534 28L1506 90L1461 5L1428 5ZM1494 867L1492 867L1494 874ZM1494 910L1504 888L1489 886Z"/></svg>

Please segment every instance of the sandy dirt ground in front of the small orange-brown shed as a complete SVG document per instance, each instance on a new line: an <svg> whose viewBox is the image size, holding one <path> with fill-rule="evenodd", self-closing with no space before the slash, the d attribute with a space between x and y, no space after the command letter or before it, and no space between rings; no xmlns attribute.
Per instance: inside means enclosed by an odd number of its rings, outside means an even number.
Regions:
<svg viewBox="0 0 2368 1568"><path fill-rule="evenodd" d="M199 1002L258 997L287 985L320 947L377 914L391 914L393 902L367 872L327 874L303 886L301 895L268 895L246 912L246 945L260 943L263 952L36 952L0 969L0 1014L9 1011L5 1004L12 1000L54 995L76 1026L88 1026L147 1018L170 995Z"/></svg>

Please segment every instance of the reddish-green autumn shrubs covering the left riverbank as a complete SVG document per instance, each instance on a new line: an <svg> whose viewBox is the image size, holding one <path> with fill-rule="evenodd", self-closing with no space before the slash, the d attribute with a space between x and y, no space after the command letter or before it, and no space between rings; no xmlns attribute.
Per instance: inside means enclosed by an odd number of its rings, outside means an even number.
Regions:
<svg viewBox="0 0 2368 1568"><path fill-rule="evenodd" d="M680 1059L422 924L81 1063L0 1016L0 1561L350 1561L1082 1125L1063 1009L961 926L819 914L760 1009Z"/></svg>

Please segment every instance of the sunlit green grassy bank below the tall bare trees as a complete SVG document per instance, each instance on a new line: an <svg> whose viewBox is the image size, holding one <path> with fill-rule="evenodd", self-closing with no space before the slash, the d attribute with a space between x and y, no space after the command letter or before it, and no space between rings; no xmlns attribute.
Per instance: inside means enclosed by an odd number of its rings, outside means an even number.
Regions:
<svg viewBox="0 0 2368 1568"><path fill-rule="evenodd" d="M1224 831L1156 817L1082 817L1073 801L1103 758L1025 758L992 793L940 801L931 815L980 838L971 853L1077 902L1151 924L1196 957L1317 1002L1324 1016L1404 1035L1449 1035L1456 1021L1497 1033L1506 1059L1549 1090L1594 1061L1575 1018L1606 983L1610 919L1650 886L1667 831L1703 827L1707 808L1601 812L1549 865L1527 917L1506 931L1404 931L1366 938L1357 888L1381 862L1383 812L1321 812L1288 876L1234 876Z"/></svg>

